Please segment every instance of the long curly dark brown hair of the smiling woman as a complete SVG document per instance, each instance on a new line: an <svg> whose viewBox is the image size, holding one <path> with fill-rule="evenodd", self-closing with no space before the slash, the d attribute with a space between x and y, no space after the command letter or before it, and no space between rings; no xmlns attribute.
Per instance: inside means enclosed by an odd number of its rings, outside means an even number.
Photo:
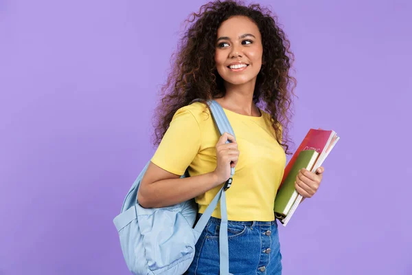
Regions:
<svg viewBox="0 0 412 275"><path fill-rule="evenodd" d="M155 113L155 145L161 142L174 113L193 100L225 96L214 55L216 36L223 21L233 16L254 21L262 35L262 69L256 80L253 102L271 115L277 142L288 152L288 124L296 80L289 74L293 62L290 42L279 28L277 17L259 4L213 1L202 5L187 19L189 28L181 38L177 54L172 55L172 71L161 89L162 98Z"/></svg>

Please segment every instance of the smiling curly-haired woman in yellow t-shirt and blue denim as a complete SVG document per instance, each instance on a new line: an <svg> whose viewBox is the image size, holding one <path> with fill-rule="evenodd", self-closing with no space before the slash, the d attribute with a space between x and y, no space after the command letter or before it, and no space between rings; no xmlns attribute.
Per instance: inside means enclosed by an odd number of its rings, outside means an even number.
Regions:
<svg viewBox="0 0 412 275"><path fill-rule="evenodd" d="M273 202L289 153L295 83L289 42L260 5L211 2L190 23L158 108L159 147L141 181L139 203L152 208L196 198L200 215L236 166L227 190L229 271L281 274ZM210 99L223 107L236 140L218 133L203 102ZM190 177L180 178L187 168ZM297 191L314 195L322 173L323 167L318 173L302 170ZM219 219L216 208L187 274L219 273Z"/></svg>

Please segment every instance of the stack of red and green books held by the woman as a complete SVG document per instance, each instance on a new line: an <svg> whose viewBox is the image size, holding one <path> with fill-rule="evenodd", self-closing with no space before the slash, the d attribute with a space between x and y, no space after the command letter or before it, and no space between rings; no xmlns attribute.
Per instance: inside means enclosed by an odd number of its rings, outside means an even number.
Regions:
<svg viewBox="0 0 412 275"><path fill-rule="evenodd" d="M335 131L310 129L285 168L282 183L275 198L275 217L286 226L303 197L295 188L295 180L301 168L316 173L330 151L339 141Z"/></svg>

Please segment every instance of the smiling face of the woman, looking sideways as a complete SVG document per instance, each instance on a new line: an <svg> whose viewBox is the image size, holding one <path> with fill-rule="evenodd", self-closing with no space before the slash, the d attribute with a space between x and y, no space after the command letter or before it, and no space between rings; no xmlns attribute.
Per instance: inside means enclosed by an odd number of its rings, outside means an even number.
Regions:
<svg viewBox="0 0 412 275"><path fill-rule="evenodd" d="M231 17L218 28L215 62L225 85L255 85L262 67L258 25L244 16Z"/></svg>

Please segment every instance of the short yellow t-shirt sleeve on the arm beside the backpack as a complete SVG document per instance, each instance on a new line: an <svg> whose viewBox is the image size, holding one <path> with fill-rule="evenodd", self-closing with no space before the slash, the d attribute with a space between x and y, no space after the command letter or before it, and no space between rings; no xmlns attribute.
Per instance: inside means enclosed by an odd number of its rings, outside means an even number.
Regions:
<svg viewBox="0 0 412 275"><path fill-rule="evenodd" d="M201 147L201 129L185 107L176 111L151 161L175 175L183 175Z"/></svg>

